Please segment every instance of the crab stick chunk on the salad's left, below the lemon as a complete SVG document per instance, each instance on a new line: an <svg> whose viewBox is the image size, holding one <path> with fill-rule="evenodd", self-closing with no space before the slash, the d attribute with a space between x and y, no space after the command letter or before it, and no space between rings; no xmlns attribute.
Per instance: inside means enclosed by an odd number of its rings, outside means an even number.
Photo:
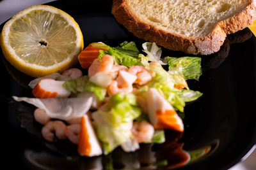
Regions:
<svg viewBox="0 0 256 170"><path fill-rule="evenodd" d="M36 98L49 98L49 97L68 97L71 92L63 87L65 81L57 81L51 78L45 78L33 88L32 94Z"/></svg>

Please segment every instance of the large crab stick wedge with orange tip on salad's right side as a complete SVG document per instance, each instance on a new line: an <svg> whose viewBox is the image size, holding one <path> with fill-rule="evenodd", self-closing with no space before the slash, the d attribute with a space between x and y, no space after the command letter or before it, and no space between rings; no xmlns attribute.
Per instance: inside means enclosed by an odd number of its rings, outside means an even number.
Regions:
<svg viewBox="0 0 256 170"><path fill-rule="evenodd" d="M173 109L172 105L164 99L159 92L150 88L147 91L148 116L155 129L173 129L184 131L184 125Z"/></svg>

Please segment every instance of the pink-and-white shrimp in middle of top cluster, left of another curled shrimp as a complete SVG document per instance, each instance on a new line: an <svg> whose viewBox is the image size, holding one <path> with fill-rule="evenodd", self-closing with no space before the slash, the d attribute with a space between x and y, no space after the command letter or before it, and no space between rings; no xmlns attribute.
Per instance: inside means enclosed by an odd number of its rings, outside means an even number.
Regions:
<svg viewBox="0 0 256 170"><path fill-rule="evenodd" d="M134 76L133 74L128 73L127 71L119 71L116 80L112 80L107 88L109 96L113 96L118 92L132 92L132 83L134 83L136 78L137 76Z"/></svg>

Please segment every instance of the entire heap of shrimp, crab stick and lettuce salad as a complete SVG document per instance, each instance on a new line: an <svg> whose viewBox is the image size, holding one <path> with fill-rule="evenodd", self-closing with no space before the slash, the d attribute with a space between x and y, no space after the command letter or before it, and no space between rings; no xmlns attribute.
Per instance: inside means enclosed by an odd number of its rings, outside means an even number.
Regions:
<svg viewBox="0 0 256 170"><path fill-rule="evenodd" d="M108 154L120 146L134 152L140 143L163 143L164 129L184 131L179 113L201 92L186 80L202 74L199 57L164 57L155 43L133 41L116 47L91 43L79 54L83 69L72 68L29 83L34 117L49 142L68 139L80 155ZM168 67L168 69L164 69ZM166 71L168 70L168 71Z"/></svg>

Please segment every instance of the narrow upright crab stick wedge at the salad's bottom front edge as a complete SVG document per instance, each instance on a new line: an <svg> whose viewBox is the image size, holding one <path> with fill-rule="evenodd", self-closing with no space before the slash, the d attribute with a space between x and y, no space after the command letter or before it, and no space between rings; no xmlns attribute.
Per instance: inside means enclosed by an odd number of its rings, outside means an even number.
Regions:
<svg viewBox="0 0 256 170"><path fill-rule="evenodd" d="M95 157L102 155L102 149L88 115L81 118L78 152L82 156Z"/></svg>

